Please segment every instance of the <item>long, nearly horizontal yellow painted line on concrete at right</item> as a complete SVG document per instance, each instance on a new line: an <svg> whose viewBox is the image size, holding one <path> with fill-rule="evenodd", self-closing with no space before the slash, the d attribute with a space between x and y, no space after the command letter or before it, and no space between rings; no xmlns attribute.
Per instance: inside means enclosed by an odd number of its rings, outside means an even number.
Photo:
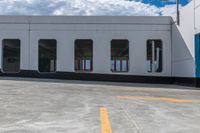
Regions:
<svg viewBox="0 0 200 133"><path fill-rule="evenodd" d="M176 99L168 97L143 97L143 96L117 96L118 99L131 99L131 100L149 100L149 101L165 101L174 103L191 103L193 100L189 99Z"/></svg>

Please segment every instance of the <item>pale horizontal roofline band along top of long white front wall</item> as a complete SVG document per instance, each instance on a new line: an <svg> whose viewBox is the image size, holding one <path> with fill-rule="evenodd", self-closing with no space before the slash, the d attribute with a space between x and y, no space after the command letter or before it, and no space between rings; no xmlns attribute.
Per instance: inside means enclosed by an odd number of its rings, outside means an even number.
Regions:
<svg viewBox="0 0 200 133"><path fill-rule="evenodd" d="M0 24L163 24L170 16L0 16Z"/></svg>

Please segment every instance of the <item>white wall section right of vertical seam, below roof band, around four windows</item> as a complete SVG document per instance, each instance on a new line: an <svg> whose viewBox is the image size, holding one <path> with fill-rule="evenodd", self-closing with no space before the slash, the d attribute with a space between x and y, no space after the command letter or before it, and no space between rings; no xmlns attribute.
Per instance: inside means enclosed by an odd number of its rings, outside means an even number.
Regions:
<svg viewBox="0 0 200 133"><path fill-rule="evenodd" d="M129 75L171 76L170 25L130 24L31 24L30 70L38 70L38 40L57 40L57 71L74 72L74 41L93 40L93 73L111 74L111 40L128 39L130 50ZM146 41L163 41L163 72L146 70ZM115 73L117 74L117 73Z"/></svg>

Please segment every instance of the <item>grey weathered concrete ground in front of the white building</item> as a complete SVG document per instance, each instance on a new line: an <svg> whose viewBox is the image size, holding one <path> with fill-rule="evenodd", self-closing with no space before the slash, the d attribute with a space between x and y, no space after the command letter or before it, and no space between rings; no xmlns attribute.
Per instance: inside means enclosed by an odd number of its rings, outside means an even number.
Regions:
<svg viewBox="0 0 200 133"><path fill-rule="evenodd" d="M200 90L151 85L0 78L0 132L199 133Z"/></svg>

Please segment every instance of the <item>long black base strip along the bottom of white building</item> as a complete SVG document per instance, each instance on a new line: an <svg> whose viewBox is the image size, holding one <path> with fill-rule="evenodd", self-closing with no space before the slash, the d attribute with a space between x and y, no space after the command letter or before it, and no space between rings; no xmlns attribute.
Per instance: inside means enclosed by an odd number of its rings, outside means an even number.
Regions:
<svg viewBox="0 0 200 133"><path fill-rule="evenodd" d="M21 70L20 73L0 72L0 76L108 81L108 82L152 83L152 84L180 84L186 86L200 87L200 78L196 79L196 78L186 78L186 77L162 77L162 76L159 77L159 76L120 75L120 74L76 73L76 72L39 73L38 71L32 71L32 70Z"/></svg>

